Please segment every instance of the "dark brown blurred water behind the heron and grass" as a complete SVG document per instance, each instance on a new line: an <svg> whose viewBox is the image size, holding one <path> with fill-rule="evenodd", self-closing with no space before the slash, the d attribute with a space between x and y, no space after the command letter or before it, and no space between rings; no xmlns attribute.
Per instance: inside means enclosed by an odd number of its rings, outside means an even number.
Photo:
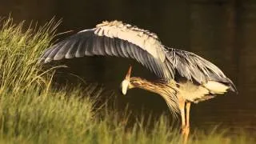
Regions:
<svg viewBox="0 0 256 144"><path fill-rule="evenodd" d="M45 24L62 18L61 40L78 30L93 28L104 20L122 20L158 34L166 46L189 50L210 60L233 80L238 94L228 93L193 105L191 125L196 128L221 126L256 132L256 1L254 0L0 0L0 16L14 22L26 20ZM58 40L57 39L57 40ZM130 63L89 58L85 68L104 82L120 83ZM113 64L114 62L114 64ZM135 64L134 64L135 65ZM81 72L81 74L82 74ZM112 77L110 76L112 74ZM117 74L117 78L114 78ZM134 75L150 75L134 66ZM91 77L90 77L91 78ZM118 89L118 84L112 85ZM162 98L143 90L131 90L122 104L131 109L168 113Z"/></svg>

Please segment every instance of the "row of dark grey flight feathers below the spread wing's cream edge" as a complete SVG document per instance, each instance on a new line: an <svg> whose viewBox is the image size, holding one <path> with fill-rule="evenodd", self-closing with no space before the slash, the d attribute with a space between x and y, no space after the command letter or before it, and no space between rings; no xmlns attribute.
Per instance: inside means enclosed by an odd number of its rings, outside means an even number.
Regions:
<svg viewBox="0 0 256 144"><path fill-rule="evenodd" d="M58 42L49 50L46 50L42 55L42 59L45 59L42 60L42 62L62 60L63 58L81 58L93 55L133 58L141 63L142 66L146 66L147 69L154 72L159 78L171 79L170 74L165 73L166 70L162 70L167 68L162 65L162 59L158 58L156 55L152 55L152 51L157 50L151 50L149 53L145 47L142 48L133 42L130 42L132 38L128 38L130 41L115 38L118 37L118 35L119 37L123 37L123 35L120 36L120 34L112 34L118 33L116 31L102 29L97 29L97 33L95 32L95 29L81 31L70 38L64 39L62 42ZM106 37L98 34L112 34L112 38L110 38L110 36ZM137 41L140 40L141 39L139 38L137 39ZM157 49L157 47L151 48Z"/></svg>

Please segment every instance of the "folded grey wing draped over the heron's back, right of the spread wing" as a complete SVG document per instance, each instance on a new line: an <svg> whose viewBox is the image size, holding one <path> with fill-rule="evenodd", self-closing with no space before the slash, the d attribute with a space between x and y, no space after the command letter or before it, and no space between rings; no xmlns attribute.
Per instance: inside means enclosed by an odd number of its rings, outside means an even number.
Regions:
<svg viewBox="0 0 256 144"><path fill-rule="evenodd" d="M223 74L222 70L194 53L166 47L166 66L169 69L173 68L174 74L177 71L179 75L190 81L200 84L209 81L222 82L230 86L230 90L236 91L234 83Z"/></svg>

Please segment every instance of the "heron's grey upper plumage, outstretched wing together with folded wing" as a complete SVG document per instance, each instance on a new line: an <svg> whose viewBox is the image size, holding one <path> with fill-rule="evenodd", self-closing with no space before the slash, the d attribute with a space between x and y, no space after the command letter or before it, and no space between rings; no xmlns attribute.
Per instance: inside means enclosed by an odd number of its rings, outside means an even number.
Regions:
<svg viewBox="0 0 256 144"><path fill-rule="evenodd" d="M118 21L103 22L58 42L44 52L41 62L94 55L133 58L166 82L180 75L199 84L222 82L236 90L213 63L191 52L163 46L156 34Z"/></svg>

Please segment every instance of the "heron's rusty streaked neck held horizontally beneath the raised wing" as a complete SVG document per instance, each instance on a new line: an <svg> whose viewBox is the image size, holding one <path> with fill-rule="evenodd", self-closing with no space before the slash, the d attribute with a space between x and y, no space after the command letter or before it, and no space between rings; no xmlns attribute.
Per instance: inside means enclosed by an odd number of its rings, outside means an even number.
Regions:
<svg viewBox="0 0 256 144"><path fill-rule="evenodd" d="M174 85L170 83L163 82L149 82L146 79L131 77L130 78L130 89L140 88L143 90L148 90L157 94L170 94L174 93Z"/></svg>

